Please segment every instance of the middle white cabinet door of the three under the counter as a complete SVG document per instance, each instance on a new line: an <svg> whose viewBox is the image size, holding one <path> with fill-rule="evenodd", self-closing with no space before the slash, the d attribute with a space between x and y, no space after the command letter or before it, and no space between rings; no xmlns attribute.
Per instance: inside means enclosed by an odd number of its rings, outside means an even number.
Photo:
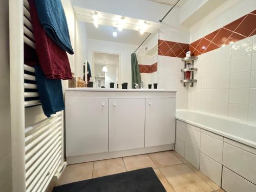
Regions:
<svg viewBox="0 0 256 192"><path fill-rule="evenodd" d="M110 152L144 147L144 122L144 98L110 98Z"/></svg>

